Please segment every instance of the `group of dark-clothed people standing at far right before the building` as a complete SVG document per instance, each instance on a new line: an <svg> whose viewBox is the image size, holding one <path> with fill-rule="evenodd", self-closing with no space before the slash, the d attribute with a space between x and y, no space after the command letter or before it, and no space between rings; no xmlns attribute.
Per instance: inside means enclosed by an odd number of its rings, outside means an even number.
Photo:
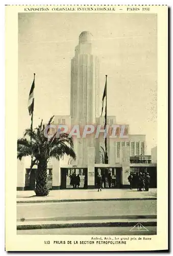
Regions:
<svg viewBox="0 0 173 256"><path fill-rule="evenodd" d="M128 177L130 189L137 187L138 191L149 191L150 175L149 173L134 173Z"/></svg>

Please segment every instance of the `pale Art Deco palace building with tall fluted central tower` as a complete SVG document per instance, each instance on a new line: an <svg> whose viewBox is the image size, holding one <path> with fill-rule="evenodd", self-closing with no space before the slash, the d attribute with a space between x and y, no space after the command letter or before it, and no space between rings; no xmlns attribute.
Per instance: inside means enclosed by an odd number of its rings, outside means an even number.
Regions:
<svg viewBox="0 0 173 256"><path fill-rule="evenodd" d="M54 124L66 125L68 133L72 127L84 128L86 124L102 125L104 127L104 116L101 113L99 104L99 81L98 81L98 59L93 54L93 36L90 32L84 31L79 36L79 44L75 48L75 56L71 59L71 84L70 84L70 115L55 116ZM107 116L107 124L117 125L116 116ZM121 138L121 125L125 127ZM57 132L53 129L51 132ZM112 132L112 130L111 130ZM146 140L145 135L130 134L128 124L120 124L116 129L116 139L107 137L108 164L104 163L105 138L95 138L95 134L88 138L75 138L74 150L77 155L76 161L64 157L60 161L50 159L47 169L47 180L50 189L64 189L70 187L70 175L72 172L79 174L81 184L85 188L95 187L98 172L103 175L111 170L116 178L114 187L126 187L128 176L132 170L147 170L157 166L157 149L152 151L152 162L132 162L132 158L145 156ZM36 168L29 175L30 166L22 161L17 161L17 189L34 189ZM136 169L135 169L136 168ZM152 171L151 171L152 172ZM118 185L117 185L118 184Z"/></svg>

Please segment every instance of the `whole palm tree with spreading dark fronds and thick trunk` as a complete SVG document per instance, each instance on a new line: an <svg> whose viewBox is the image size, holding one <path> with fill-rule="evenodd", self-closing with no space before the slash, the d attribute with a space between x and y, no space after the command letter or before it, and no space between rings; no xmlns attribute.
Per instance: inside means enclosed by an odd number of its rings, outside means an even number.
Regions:
<svg viewBox="0 0 173 256"><path fill-rule="evenodd" d="M47 125L51 124L52 119L48 121ZM42 120L43 121L43 120ZM31 156L33 166L37 165L36 172L36 196L47 196L49 189L47 187L47 163L50 158L56 158L60 160L64 155L70 156L76 159L76 154L73 151L73 141L68 134L61 134L59 138L56 137L56 133L51 139L48 139L44 135L45 125L42 121L36 129L26 129L24 137L17 140L17 158L19 160L22 157ZM25 138L30 137L30 140Z"/></svg>

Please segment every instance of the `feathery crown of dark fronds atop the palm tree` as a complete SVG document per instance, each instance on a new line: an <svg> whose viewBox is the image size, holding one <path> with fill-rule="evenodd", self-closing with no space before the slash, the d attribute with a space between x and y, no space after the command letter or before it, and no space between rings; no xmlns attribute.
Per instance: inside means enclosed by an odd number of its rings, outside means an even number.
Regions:
<svg viewBox="0 0 173 256"><path fill-rule="evenodd" d="M47 125L50 125L54 116L50 118ZM29 136L31 140L27 138L19 138L17 140L17 158L21 160L22 157L32 156L38 162L41 160L47 161L50 157L55 157L58 160L64 155L68 155L73 159L76 159L75 152L73 151L72 137L68 137L68 134L60 134L57 138L56 134L51 139L47 139L44 136L44 124L41 123L32 131L26 129L24 136Z"/></svg>

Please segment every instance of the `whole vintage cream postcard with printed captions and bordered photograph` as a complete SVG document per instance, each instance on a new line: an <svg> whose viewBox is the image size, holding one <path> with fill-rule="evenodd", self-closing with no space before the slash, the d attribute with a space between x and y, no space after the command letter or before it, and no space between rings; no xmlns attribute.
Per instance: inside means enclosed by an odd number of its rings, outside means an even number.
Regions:
<svg viewBox="0 0 173 256"><path fill-rule="evenodd" d="M167 6L6 6L7 251L168 249L167 63Z"/></svg>

